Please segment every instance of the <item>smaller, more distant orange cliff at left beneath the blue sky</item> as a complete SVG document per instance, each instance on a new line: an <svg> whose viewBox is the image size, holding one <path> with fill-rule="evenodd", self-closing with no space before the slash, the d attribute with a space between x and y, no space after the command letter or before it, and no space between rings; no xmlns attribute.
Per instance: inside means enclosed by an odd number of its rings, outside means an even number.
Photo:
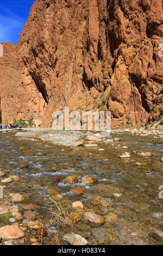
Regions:
<svg viewBox="0 0 163 256"><path fill-rule="evenodd" d="M18 46L5 42L3 53L4 56L0 57L1 121L39 118L45 101L28 71L22 68Z"/></svg>

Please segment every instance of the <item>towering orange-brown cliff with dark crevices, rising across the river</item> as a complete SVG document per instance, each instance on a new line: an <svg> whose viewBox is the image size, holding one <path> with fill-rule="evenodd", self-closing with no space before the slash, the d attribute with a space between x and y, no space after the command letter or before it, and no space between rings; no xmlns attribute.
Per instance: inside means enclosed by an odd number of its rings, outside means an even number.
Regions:
<svg viewBox="0 0 163 256"><path fill-rule="evenodd" d="M159 119L162 13L161 0L34 2L13 46L21 77L21 83L14 82L15 94L20 90L24 96L28 89L21 102L30 108L20 105L24 116L39 114L42 127L51 126L53 111L69 106L70 111L108 109L112 127ZM1 71L0 77L4 87ZM3 103L1 110L4 117Z"/></svg>

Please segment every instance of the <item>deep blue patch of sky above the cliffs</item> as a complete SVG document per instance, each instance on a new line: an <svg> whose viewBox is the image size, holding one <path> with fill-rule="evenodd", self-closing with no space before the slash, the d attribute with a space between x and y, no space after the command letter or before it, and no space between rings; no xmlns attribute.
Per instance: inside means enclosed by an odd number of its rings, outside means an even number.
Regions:
<svg viewBox="0 0 163 256"><path fill-rule="evenodd" d="M0 0L0 43L17 44L34 0Z"/></svg>

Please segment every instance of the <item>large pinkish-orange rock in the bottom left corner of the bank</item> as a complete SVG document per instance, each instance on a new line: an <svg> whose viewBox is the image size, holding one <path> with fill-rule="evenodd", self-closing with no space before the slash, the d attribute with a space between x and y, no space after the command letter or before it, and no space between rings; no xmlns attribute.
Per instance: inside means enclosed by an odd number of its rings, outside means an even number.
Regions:
<svg viewBox="0 0 163 256"><path fill-rule="evenodd" d="M16 224L0 228L0 237L2 237L2 239L18 239L23 236L23 231Z"/></svg>

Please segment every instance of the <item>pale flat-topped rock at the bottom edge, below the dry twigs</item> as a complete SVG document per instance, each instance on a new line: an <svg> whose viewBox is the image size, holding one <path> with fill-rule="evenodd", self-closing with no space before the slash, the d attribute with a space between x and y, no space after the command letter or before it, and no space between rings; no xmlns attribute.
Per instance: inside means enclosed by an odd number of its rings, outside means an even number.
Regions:
<svg viewBox="0 0 163 256"><path fill-rule="evenodd" d="M87 245L87 241L84 237L74 233L66 234L62 239L69 242L71 245Z"/></svg>

